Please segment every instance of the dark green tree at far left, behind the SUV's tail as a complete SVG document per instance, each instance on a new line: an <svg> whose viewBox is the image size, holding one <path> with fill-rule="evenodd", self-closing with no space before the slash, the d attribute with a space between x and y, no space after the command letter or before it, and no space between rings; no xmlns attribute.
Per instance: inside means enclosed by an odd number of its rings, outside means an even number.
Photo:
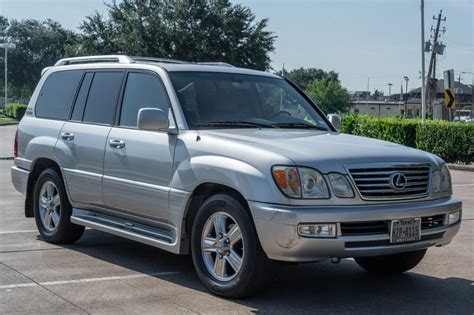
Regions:
<svg viewBox="0 0 474 315"><path fill-rule="evenodd" d="M75 54L76 35L52 20L7 21L2 17L0 21L9 41L16 44L8 51L9 95L29 98L44 67Z"/></svg>

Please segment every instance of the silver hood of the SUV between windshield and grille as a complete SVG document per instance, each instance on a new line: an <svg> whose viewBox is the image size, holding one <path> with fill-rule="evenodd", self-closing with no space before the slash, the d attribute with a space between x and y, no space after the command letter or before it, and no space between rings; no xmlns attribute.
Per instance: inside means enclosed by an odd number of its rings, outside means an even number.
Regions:
<svg viewBox="0 0 474 315"><path fill-rule="evenodd" d="M201 130L205 136L239 142L278 153L296 165L310 166L323 173L343 172L348 164L415 162L442 163L437 156L366 137L336 132L296 129L220 129ZM252 157L249 157L251 160Z"/></svg>

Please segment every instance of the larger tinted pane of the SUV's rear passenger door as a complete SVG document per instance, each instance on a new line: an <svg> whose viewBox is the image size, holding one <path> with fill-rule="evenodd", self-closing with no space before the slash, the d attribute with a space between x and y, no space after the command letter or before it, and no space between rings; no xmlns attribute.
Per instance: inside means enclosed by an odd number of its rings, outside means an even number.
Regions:
<svg viewBox="0 0 474 315"><path fill-rule="evenodd" d="M113 124L122 77L121 71L95 73L84 110L84 122Z"/></svg>

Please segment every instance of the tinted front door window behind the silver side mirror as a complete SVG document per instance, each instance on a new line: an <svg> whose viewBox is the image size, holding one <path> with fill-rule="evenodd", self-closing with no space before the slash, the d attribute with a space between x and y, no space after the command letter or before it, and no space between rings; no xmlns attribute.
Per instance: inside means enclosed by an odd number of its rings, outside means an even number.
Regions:
<svg viewBox="0 0 474 315"><path fill-rule="evenodd" d="M170 107L161 81L146 73L129 73L122 101L120 126L137 127L140 108L159 108L169 115Z"/></svg>

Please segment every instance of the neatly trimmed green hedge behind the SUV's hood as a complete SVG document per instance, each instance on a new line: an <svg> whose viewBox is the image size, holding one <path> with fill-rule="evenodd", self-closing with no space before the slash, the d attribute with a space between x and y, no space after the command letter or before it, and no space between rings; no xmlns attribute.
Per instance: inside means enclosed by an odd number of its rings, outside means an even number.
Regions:
<svg viewBox="0 0 474 315"><path fill-rule="evenodd" d="M398 117L345 115L342 132L391 141L439 155L447 162L474 160L474 125Z"/></svg>

